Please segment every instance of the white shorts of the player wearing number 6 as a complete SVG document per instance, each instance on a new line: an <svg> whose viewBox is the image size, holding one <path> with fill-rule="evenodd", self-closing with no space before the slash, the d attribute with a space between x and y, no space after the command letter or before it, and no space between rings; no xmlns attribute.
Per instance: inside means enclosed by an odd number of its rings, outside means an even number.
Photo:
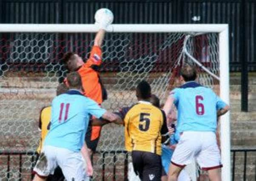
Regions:
<svg viewBox="0 0 256 181"><path fill-rule="evenodd" d="M174 150L171 163L183 168L191 164L194 159L202 170L222 167L215 133L210 131L183 132Z"/></svg>

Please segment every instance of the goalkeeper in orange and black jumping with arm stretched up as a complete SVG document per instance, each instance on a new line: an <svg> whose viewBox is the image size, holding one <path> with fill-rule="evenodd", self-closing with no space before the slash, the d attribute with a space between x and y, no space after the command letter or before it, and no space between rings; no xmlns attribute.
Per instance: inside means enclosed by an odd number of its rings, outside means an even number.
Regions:
<svg viewBox="0 0 256 181"><path fill-rule="evenodd" d="M97 32L94 45L91 49L89 59L84 62L82 58L74 52L66 53L63 61L69 72L77 71L82 78L82 88L84 95L96 101L101 105L103 100L107 99L107 92L100 79L98 67L102 64L102 50L101 45L105 36L105 31L110 25L108 19L102 19L97 26L100 28ZM101 126L88 125L88 130L85 135L85 142L88 146L90 155L95 152L100 138Z"/></svg>

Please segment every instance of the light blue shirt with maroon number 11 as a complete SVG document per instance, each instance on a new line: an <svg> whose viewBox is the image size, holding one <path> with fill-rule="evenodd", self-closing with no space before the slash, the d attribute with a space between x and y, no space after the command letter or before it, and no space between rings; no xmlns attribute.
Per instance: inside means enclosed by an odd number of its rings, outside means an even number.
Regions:
<svg viewBox="0 0 256 181"><path fill-rule="evenodd" d="M89 115L97 118L106 112L98 104L77 90L69 90L55 97L51 103L51 125L44 145L81 150L87 130Z"/></svg>

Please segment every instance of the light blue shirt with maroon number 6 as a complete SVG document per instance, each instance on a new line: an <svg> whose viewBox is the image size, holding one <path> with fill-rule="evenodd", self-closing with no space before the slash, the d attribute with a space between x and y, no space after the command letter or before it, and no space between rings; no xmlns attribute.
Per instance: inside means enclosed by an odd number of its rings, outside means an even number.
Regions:
<svg viewBox="0 0 256 181"><path fill-rule="evenodd" d="M171 91L178 110L177 131L216 131L217 110L226 106L212 89L195 81Z"/></svg>

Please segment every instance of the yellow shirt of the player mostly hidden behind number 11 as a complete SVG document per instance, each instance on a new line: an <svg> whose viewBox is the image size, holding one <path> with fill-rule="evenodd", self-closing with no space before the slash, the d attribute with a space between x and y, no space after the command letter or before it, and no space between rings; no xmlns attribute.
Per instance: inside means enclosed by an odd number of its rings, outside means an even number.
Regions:
<svg viewBox="0 0 256 181"><path fill-rule="evenodd" d="M37 148L37 153L41 152L41 149L43 148L43 141L46 138L46 135L48 133L47 126L51 121L51 106L44 107L40 112L39 117L39 128L41 129L41 138L40 143Z"/></svg>

